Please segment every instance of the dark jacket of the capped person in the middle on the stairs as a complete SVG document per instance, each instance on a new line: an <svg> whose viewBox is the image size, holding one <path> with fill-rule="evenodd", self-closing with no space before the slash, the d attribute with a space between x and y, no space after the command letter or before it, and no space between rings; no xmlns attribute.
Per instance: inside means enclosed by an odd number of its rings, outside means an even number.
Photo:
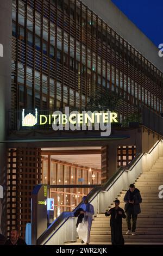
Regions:
<svg viewBox="0 0 163 256"><path fill-rule="evenodd" d="M115 222L118 225L122 226L122 218L126 218L126 215L124 214L124 210L122 208L118 207L118 209L117 209L117 218L115 218L115 215L116 215L115 207L111 208L109 211L111 212L111 214L108 214L107 212L105 212L105 216L110 216L111 215L110 226L114 225ZM118 211L122 211L122 214L118 214Z"/></svg>

